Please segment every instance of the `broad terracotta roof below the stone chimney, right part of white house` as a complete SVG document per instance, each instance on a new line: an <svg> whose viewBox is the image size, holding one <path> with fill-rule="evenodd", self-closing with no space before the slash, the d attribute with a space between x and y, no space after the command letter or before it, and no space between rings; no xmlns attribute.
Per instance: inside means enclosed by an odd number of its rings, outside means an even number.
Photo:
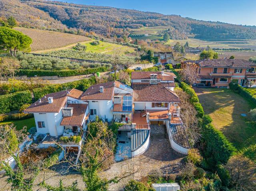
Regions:
<svg viewBox="0 0 256 191"><path fill-rule="evenodd" d="M166 83L133 83L133 101L180 102L176 93L166 88Z"/></svg>

